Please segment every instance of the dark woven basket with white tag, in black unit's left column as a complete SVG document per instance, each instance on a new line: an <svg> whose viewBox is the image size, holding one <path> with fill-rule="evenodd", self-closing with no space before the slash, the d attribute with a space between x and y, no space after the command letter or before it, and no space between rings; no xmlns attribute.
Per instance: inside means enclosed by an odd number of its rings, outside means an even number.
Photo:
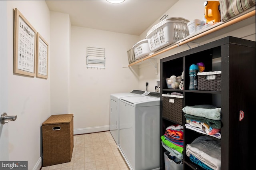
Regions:
<svg viewBox="0 0 256 170"><path fill-rule="evenodd" d="M163 97L162 117L182 125L183 96L162 94L162 97Z"/></svg>

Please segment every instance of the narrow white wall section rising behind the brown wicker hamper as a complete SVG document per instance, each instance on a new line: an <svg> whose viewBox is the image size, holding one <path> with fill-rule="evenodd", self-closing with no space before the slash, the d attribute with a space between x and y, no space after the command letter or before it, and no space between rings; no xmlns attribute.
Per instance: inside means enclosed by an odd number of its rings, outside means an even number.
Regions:
<svg viewBox="0 0 256 170"><path fill-rule="evenodd" d="M70 27L68 14L50 12L51 115L70 113Z"/></svg>

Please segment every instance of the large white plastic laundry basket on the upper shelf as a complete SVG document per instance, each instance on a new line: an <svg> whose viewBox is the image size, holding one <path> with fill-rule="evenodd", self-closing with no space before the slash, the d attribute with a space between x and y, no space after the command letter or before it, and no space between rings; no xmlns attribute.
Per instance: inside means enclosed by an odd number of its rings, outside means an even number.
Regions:
<svg viewBox="0 0 256 170"><path fill-rule="evenodd" d="M147 33L150 51L166 47L174 42L182 40L188 36L187 24L189 20L185 18L167 18L153 26Z"/></svg>

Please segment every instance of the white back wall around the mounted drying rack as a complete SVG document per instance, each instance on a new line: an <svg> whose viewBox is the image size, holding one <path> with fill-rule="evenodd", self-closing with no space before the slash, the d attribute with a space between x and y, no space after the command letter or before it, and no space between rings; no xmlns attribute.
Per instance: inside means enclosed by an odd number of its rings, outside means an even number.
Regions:
<svg viewBox="0 0 256 170"><path fill-rule="evenodd" d="M74 134L109 130L110 94L138 89L138 68L127 68L126 53L136 41L138 36L71 27L70 111L74 113ZM105 49L105 69L86 68L87 47Z"/></svg>

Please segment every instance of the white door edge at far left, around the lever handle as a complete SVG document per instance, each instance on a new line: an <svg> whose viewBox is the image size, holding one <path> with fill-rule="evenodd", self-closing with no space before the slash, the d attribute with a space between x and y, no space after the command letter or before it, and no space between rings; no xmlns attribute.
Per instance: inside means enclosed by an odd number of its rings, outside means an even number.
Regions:
<svg viewBox="0 0 256 170"><path fill-rule="evenodd" d="M7 1L0 1L0 115L8 114L7 89ZM9 160L8 124L0 124L0 160Z"/></svg>

